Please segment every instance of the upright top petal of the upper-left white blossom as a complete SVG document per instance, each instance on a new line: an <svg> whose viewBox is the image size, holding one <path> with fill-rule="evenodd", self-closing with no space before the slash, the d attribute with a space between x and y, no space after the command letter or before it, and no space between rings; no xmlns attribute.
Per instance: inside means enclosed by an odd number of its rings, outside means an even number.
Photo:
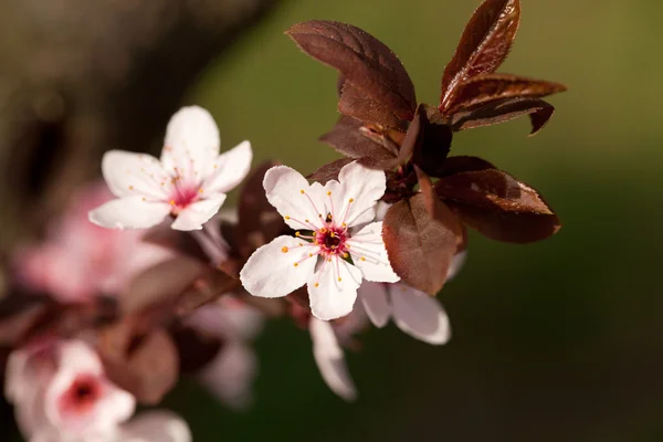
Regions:
<svg viewBox="0 0 663 442"><path fill-rule="evenodd" d="M213 171L221 138L210 113L199 106L182 107L168 123L161 164L185 181L200 182Z"/></svg>

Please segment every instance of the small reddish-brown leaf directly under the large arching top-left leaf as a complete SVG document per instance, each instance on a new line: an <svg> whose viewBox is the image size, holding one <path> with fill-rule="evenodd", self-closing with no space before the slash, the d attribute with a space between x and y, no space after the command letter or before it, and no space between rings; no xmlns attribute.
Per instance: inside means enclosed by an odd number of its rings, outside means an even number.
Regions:
<svg viewBox="0 0 663 442"><path fill-rule="evenodd" d="M387 104L371 97L350 82L345 82L343 86L338 112L383 127L402 127L403 125Z"/></svg>

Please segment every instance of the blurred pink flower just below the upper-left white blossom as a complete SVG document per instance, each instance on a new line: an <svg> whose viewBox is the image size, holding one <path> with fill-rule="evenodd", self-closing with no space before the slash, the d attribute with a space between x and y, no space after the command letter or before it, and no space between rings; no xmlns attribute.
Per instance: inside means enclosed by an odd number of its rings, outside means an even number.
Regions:
<svg viewBox="0 0 663 442"><path fill-rule="evenodd" d="M99 294L116 295L135 274L172 255L166 248L141 242L141 232L91 223L87 212L112 198L101 182L77 191L48 227L45 241L14 255L19 284L63 303L85 302Z"/></svg>

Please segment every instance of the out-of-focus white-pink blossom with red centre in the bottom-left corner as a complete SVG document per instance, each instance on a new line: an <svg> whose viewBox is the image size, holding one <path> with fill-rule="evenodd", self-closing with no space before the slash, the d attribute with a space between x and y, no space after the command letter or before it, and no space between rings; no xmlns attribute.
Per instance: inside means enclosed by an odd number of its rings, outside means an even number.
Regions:
<svg viewBox="0 0 663 442"><path fill-rule="evenodd" d="M134 414L134 397L106 378L96 352L81 340L45 340L13 351L4 382L29 441L191 440L181 419L164 413L146 413L125 424Z"/></svg>

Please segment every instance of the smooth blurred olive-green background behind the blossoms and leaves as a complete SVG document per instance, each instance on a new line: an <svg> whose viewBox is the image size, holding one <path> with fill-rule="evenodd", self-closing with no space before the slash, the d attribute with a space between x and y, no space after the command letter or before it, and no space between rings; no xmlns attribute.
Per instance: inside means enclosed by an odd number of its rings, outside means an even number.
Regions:
<svg viewBox="0 0 663 442"><path fill-rule="evenodd" d="M538 136L526 137L523 118L461 133L452 154L486 158L538 189L561 231L530 245L472 232L465 269L440 294L452 340L431 347L393 326L369 332L348 355L356 403L325 387L306 333L270 324L255 344L261 373L248 412L188 380L167 398L197 441L663 440L663 2L523 3L501 71L570 90L550 99L557 114ZM336 119L336 73L283 31L309 19L356 24L400 56L421 102L435 103L477 4L277 2L177 99L212 112L222 148L250 139L256 161L309 172L337 157L316 140ZM98 162L86 165L97 173ZM2 211L3 224L17 222Z"/></svg>

